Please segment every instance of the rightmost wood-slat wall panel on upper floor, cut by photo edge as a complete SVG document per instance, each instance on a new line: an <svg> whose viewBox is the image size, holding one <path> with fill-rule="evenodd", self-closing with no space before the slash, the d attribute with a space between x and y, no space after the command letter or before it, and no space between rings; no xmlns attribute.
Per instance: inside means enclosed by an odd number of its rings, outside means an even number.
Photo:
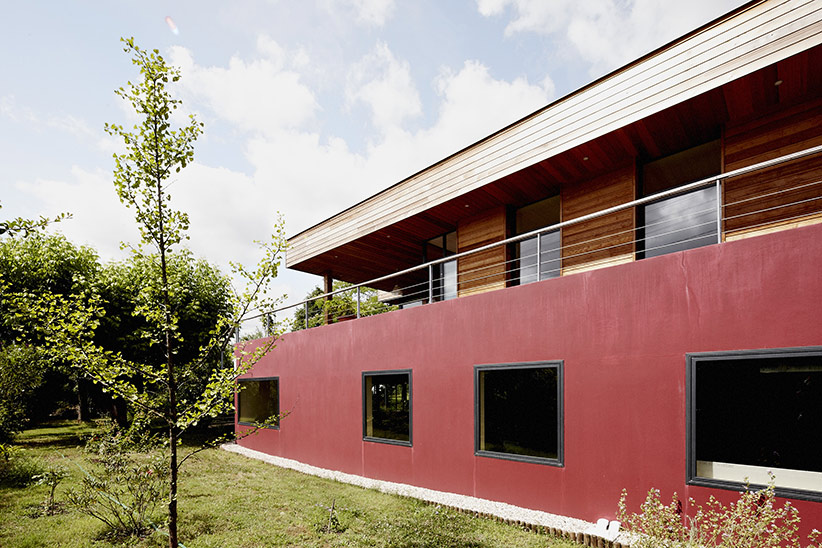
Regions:
<svg viewBox="0 0 822 548"><path fill-rule="evenodd" d="M822 100L799 105L725 133L725 170L822 145ZM724 187L725 232L771 231L822 213L822 155L800 158L749 175Z"/></svg>

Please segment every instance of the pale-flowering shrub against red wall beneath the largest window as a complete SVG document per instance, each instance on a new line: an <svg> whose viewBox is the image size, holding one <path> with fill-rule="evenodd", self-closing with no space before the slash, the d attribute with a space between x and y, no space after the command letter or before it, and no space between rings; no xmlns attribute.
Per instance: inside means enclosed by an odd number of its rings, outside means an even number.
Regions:
<svg viewBox="0 0 822 548"><path fill-rule="evenodd" d="M619 499L617 519L636 535L632 546L637 548L800 548L799 511L786 502L775 501L774 477L761 490L746 489L736 502L727 506L713 495L708 502L696 505L695 512L686 516L674 493L671 503L660 500L657 489L648 491L638 514L628 514L628 493L623 489ZM820 548L820 533L814 530L808 537L807 548Z"/></svg>

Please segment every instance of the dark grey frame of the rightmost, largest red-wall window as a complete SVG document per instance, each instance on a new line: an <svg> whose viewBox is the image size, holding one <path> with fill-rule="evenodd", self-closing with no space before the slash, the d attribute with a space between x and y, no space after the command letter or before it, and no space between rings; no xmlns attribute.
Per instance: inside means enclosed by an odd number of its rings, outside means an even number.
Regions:
<svg viewBox="0 0 822 548"><path fill-rule="evenodd" d="M822 357L822 346L787 347L787 348L761 348L752 350L729 350L719 352L693 352L685 355L686 377L685 377L685 417L686 417L686 465L685 483L699 487L713 487L731 491L741 491L747 489L764 489L766 485L751 483L746 486L744 482L726 479L706 478L697 475L696 465L696 369L697 364L703 361L725 361L740 358L765 359L784 357ZM822 502L822 491L811 491L797 489L793 487L774 487L774 493L778 497Z"/></svg>

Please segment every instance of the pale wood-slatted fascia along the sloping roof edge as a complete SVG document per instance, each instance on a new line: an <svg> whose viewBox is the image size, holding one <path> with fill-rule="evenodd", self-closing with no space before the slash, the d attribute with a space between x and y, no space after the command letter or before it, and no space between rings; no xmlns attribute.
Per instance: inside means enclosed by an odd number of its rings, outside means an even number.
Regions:
<svg viewBox="0 0 822 548"><path fill-rule="evenodd" d="M822 44L822 4L755 4L290 239L287 266Z"/></svg>

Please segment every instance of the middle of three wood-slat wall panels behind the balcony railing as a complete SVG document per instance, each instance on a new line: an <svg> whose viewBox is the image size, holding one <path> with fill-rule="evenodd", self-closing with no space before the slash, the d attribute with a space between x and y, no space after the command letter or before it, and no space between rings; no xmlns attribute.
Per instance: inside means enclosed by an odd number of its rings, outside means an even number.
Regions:
<svg viewBox="0 0 822 548"><path fill-rule="evenodd" d="M626 166L562 190L562 220L634 200L636 167ZM577 272L585 264L604 266L634 253L634 209L617 211L562 229L563 273Z"/></svg>

